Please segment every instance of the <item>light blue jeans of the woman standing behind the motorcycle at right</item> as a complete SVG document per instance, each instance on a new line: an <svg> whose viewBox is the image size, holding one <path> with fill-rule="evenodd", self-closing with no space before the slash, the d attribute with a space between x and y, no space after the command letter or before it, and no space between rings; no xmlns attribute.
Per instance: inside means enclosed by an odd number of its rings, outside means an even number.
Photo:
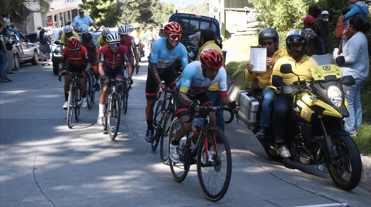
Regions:
<svg viewBox="0 0 371 207"><path fill-rule="evenodd" d="M362 79L356 78L352 86L344 86L344 96L348 101L349 117L345 118L345 127L350 134L362 126L361 84Z"/></svg>

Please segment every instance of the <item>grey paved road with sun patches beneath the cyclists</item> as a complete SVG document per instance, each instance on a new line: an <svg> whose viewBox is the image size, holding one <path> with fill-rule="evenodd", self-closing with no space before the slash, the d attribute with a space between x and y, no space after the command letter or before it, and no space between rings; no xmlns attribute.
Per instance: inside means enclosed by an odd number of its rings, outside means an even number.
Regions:
<svg viewBox="0 0 371 207"><path fill-rule="evenodd" d="M158 149L144 140L146 64L133 76L115 141L96 125L97 104L82 108L68 128L64 83L56 81L52 66L21 65L21 72L9 75L12 83L0 83L0 206L371 206L370 191L340 190L326 170L269 160L236 121L226 125L233 171L224 198L204 197L195 166L176 182Z"/></svg>

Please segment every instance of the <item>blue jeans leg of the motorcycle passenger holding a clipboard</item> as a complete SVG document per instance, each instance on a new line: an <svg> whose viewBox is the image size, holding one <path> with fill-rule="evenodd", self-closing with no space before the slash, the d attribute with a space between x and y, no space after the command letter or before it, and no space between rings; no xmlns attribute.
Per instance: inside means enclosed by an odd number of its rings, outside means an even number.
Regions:
<svg viewBox="0 0 371 207"><path fill-rule="evenodd" d="M273 103L275 101L276 92L273 88L265 88L263 90L262 114L260 115L260 126L268 127L270 115L272 114Z"/></svg>

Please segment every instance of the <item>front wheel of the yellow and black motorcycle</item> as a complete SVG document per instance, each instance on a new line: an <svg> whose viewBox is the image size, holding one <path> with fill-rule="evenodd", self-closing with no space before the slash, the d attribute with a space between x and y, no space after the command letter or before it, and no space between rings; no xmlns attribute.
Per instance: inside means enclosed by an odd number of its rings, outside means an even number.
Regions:
<svg viewBox="0 0 371 207"><path fill-rule="evenodd" d="M352 190L361 180L362 161L354 140L349 135L335 135L334 145L338 157L328 162L328 171L335 185Z"/></svg>

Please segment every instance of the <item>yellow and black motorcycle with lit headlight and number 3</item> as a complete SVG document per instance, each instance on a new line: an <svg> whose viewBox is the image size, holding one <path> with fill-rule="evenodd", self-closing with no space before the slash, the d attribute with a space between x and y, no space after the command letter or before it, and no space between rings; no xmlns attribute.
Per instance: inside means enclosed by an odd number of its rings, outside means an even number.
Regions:
<svg viewBox="0 0 371 207"><path fill-rule="evenodd" d="M315 65L311 81L301 81L298 76L293 84L277 88L279 93L293 96L295 127L287 135L289 159L308 165L324 163L335 185L351 190L361 180L362 162L357 145L344 129L349 108L342 85L355 81L352 76L342 76L338 65L344 64L344 56L335 61L331 54L313 55L311 61ZM282 65L280 72L295 74L290 64ZM283 160L273 132L259 141L270 158Z"/></svg>

